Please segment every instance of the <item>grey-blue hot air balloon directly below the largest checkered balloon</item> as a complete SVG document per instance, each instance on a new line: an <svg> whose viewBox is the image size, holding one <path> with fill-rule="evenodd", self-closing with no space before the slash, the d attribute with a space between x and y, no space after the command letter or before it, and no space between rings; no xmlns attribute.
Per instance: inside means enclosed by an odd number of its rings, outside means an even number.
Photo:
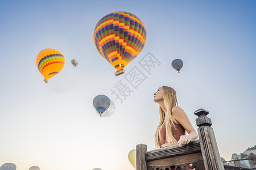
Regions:
<svg viewBox="0 0 256 170"><path fill-rule="evenodd" d="M98 95L93 99L93 107L96 109L100 116L104 113L110 105L110 99L108 96L105 95Z"/></svg>

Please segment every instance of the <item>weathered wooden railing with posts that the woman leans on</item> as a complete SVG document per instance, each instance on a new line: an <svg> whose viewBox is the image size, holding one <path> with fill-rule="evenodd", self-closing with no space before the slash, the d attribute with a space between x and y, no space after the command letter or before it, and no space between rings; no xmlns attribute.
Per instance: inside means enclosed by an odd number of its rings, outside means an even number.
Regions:
<svg viewBox="0 0 256 170"><path fill-rule="evenodd" d="M217 142L212 122L207 114L209 112L199 109L194 112L198 116L196 125L199 139L185 146L169 146L147 151L147 145L136 146L137 170L217 170L217 169L246 169L223 165L218 152Z"/></svg>

